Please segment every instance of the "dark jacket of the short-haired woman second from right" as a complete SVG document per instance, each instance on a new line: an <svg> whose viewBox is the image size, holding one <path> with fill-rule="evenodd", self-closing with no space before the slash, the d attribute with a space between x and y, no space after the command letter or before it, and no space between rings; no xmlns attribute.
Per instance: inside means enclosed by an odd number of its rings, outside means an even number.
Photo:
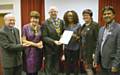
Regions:
<svg viewBox="0 0 120 75"><path fill-rule="evenodd" d="M82 34L82 32L84 33ZM98 32L99 32L98 23L92 21L89 26L83 24L81 28L81 38L85 39L83 41L81 40L81 44L85 46L86 50L90 49L93 50L93 52L95 51Z"/></svg>

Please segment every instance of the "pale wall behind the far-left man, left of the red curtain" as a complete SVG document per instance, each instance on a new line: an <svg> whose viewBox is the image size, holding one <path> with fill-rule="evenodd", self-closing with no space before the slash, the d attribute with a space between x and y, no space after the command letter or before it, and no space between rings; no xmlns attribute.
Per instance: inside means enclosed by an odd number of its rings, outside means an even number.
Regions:
<svg viewBox="0 0 120 75"><path fill-rule="evenodd" d="M16 17L16 27L21 30L21 6L20 0L0 0L0 4L13 4L13 10L10 11L15 14ZM6 11L5 11L6 13Z"/></svg>

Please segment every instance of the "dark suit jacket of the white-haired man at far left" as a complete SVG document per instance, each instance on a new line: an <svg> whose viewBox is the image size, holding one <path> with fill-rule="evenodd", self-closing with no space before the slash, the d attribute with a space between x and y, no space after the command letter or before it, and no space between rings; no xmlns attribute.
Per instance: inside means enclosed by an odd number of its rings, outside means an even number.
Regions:
<svg viewBox="0 0 120 75"><path fill-rule="evenodd" d="M4 68L11 68L22 64L19 31L17 28L13 28L13 33L7 26L4 26L0 30L0 46L2 47L2 61Z"/></svg>

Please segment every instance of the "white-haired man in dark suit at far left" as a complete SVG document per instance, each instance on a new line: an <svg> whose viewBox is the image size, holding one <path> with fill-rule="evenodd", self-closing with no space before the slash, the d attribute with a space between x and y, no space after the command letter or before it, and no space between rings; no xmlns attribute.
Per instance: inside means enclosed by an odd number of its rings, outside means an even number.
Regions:
<svg viewBox="0 0 120 75"><path fill-rule="evenodd" d="M21 51L26 44L20 44L19 30L14 27L15 16L6 14L5 25L0 30L0 46L2 48L2 62L4 75L21 75Z"/></svg>

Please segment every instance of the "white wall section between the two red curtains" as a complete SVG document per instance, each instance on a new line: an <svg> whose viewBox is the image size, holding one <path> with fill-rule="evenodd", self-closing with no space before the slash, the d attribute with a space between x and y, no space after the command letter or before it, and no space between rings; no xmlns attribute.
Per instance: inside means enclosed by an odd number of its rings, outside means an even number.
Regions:
<svg viewBox="0 0 120 75"><path fill-rule="evenodd" d="M45 0L45 19L49 17L50 6L57 6L58 17L63 19L63 14L67 10L75 10L79 15L80 23L83 24L82 11L89 8L93 11L93 20L98 22L98 0Z"/></svg>

